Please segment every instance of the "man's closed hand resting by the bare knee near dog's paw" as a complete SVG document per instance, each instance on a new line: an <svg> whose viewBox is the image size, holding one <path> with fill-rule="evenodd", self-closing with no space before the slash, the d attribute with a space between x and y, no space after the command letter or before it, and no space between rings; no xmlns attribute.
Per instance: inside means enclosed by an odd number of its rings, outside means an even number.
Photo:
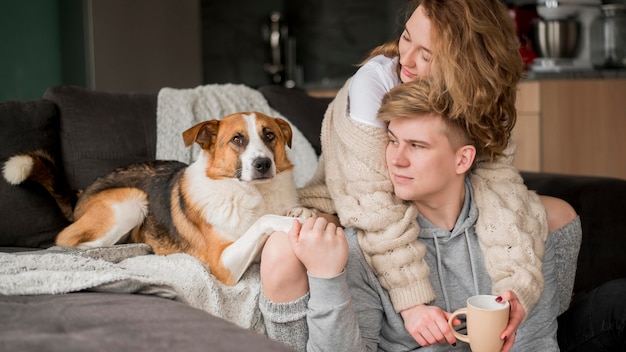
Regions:
<svg viewBox="0 0 626 352"><path fill-rule="evenodd" d="M343 229L323 217L308 218L289 231L294 254L310 275L330 278L339 275L348 262L348 241Z"/></svg>

